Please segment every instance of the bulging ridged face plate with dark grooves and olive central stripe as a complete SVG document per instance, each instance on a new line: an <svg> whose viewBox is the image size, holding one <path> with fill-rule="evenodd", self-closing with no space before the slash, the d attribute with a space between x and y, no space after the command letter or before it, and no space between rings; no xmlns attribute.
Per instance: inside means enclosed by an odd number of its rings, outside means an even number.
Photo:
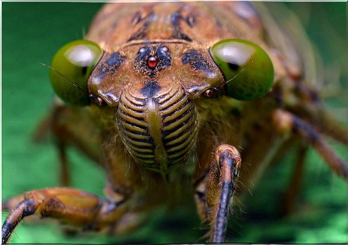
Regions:
<svg viewBox="0 0 348 245"><path fill-rule="evenodd" d="M188 159L198 134L195 107L175 82L150 80L126 89L117 122L130 155L161 173Z"/></svg>

